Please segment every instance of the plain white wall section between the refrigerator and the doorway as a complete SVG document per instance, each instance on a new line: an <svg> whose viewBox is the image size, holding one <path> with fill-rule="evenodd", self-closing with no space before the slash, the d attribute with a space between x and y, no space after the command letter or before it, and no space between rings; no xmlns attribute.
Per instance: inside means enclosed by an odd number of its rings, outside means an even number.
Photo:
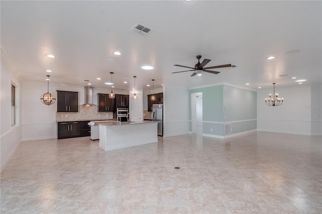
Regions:
<svg viewBox="0 0 322 214"><path fill-rule="evenodd" d="M164 85L164 137L189 133L189 89Z"/></svg>

